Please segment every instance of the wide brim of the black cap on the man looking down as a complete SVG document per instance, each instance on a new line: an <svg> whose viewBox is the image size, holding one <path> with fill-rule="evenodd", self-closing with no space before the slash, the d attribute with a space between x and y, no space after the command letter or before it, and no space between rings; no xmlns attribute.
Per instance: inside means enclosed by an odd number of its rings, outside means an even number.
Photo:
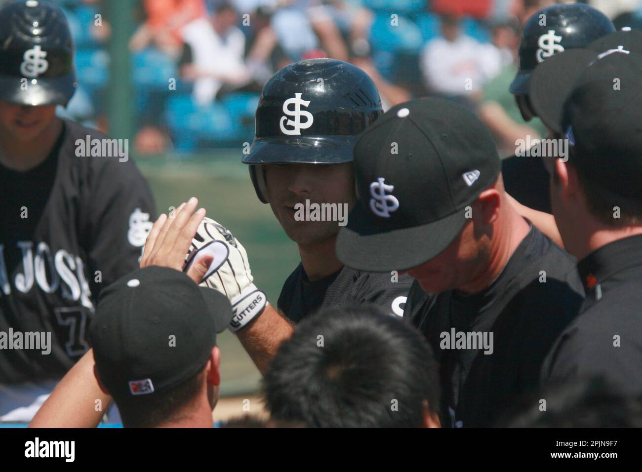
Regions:
<svg viewBox="0 0 642 472"><path fill-rule="evenodd" d="M406 270L440 254L455 240L465 223L463 211L433 223L382 232L361 205L348 215L339 231L336 256L348 267L369 272Z"/></svg>

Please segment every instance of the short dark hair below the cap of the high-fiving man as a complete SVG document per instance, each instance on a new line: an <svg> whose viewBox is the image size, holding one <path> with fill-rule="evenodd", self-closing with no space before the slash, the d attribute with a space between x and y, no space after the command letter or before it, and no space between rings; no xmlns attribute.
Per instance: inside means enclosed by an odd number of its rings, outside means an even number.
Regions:
<svg viewBox="0 0 642 472"><path fill-rule="evenodd" d="M205 368L205 365L203 365ZM171 421L185 406L198 396L205 373L198 373L166 392L114 398L125 428L155 428Z"/></svg>

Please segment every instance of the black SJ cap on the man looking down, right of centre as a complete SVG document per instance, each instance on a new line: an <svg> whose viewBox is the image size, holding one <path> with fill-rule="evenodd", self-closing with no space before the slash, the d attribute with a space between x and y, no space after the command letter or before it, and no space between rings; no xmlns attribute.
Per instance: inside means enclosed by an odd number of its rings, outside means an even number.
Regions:
<svg viewBox="0 0 642 472"><path fill-rule="evenodd" d="M336 254L348 267L387 272L446 249L469 221L465 207L494 184L501 163L473 112L421 98L392 107L363 132L354 169L360 198Z"/></svg>

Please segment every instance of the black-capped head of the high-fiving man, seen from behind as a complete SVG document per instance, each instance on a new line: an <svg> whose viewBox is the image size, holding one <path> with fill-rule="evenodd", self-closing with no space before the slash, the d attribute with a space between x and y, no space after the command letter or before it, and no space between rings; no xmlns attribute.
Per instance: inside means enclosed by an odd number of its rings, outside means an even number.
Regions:
<svg viewBox="0 0 642 472"><path fill-rule="evenodd" d="M126 427L185 422L189 413L211 426L216 335L232 316L225 295L168 267L135 270L102 290L89 329L94 374Z"/></svg>

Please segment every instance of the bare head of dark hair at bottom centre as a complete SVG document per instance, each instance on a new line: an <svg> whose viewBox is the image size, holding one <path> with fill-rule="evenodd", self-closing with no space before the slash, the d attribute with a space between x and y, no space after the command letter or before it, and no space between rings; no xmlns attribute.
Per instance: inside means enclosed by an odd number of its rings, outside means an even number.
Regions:
<svg viewBox="0 0 642 472"><path fill-rule="evenodd" d="M421 427L438 411L437 363L419 331L374 305L319 311L263 379L275 421L308 427ZM427 405L426 405L427 403Z"/></svg>

